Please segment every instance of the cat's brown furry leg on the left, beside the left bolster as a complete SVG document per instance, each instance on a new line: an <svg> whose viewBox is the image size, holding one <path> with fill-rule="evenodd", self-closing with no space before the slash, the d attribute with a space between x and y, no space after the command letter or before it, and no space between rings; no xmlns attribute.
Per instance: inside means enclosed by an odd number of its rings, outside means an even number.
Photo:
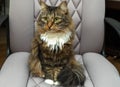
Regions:
<svg viewBox="0 0 120 87"><path fill-rule="evenodd" d="M42 71L41 61L38 58L39 53L38 45L39 45L38 41L34 39L32 42L32 50L29 59L29 69L30 73L33 76L45 77L45 74Z"/></svg>

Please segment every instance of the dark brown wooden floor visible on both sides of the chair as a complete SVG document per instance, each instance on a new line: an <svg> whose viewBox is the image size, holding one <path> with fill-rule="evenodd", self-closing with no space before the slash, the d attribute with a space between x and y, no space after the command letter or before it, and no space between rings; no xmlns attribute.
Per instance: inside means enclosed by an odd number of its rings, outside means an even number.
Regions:
<svg viewBox="0 0 120 87"><path fill-rule="evenodd" d="M7 55L7 40L6 40L6 29L4 27L0 28L0 68L2 67L6 55ZM115 59L112 56L108 56L107 59L115 65L115 67L120 72L120 58Z"/></svg>

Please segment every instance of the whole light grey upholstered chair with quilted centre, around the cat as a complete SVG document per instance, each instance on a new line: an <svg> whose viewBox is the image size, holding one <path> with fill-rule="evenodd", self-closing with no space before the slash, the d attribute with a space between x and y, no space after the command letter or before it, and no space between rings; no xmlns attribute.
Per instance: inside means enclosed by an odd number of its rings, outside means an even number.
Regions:
<svg viewBox="0 0 120 87"><path fill-rule="evenodd" d="M45 0L58 5L61 0ZM116 68L99 53L104 41L105 0L67 0L76 26L76 60L85 68L84 87L120 87ZM10 50L0 71L0 87L52 87L29 76L28 58L40 10L37 0L10 0Z"/></svg>

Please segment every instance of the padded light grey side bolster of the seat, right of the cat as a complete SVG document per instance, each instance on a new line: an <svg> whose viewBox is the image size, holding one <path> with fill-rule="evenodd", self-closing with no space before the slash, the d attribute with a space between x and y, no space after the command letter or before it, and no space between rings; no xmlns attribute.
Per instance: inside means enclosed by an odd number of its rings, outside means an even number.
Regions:
<svg viewBox="0 0 120 87"><path fill-rule="evenodd" d="M120 87L118 71L102 55L86 53L83 61L94 87Z"/></svg>

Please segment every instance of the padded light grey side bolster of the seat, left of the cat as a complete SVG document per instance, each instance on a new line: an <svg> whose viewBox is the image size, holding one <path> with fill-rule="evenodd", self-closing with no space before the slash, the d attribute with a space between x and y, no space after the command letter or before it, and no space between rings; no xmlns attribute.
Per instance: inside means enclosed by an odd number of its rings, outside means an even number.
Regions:
<svg viewBox="0 0 120 87"><path fill-rule="evenodd" d="M29 76L29 53L11 54L0 71L0 87L26 87Z"/></svg>

